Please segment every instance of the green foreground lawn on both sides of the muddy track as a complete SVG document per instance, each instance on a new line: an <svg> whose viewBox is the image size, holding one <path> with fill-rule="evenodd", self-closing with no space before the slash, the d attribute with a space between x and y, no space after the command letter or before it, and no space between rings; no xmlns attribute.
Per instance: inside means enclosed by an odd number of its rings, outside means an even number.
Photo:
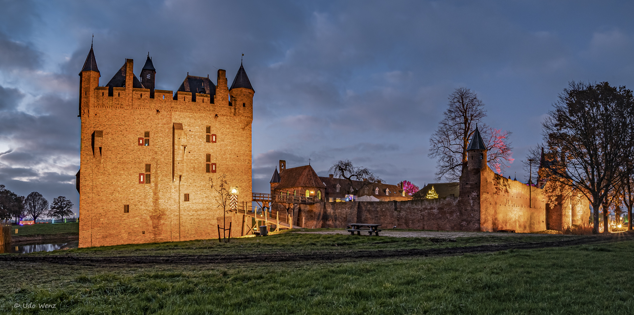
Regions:
<svg viewBox="0 0 634 315"><path fill-rule="evenodd" d="M77 257L275 251L353 251L527 242L284 233L268 238L86 248ZM245 248L247 247L247 248ZM340 248L341 247L341 248ZM337 249L339 248L339 249ZM3 262L0 312L56 304L52 314L630 314L634 241L441 258L206 265Z"/></svg>

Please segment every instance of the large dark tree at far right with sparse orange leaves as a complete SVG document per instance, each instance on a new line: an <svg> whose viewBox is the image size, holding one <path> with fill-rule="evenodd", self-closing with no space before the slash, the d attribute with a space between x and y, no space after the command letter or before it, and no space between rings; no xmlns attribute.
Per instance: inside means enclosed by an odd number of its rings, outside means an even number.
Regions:
<svg viewBox="0 0 634 315"><path fill-rule="evenodd" d="M585 194L593 208L593 233L598 233L598 209L603 208L607 217L607 207L602 206L628 174L621 168L633 153L632 91L607 82L571 82L554 107L543 123L550 154L558 157L548 164L549 179Z"/></svg>

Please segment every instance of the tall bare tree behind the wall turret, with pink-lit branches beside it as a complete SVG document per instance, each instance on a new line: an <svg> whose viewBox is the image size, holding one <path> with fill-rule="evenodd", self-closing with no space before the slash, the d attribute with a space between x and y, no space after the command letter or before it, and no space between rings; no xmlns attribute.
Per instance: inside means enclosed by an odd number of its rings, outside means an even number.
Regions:
<svg viewBox="0 0 634 315"><path fill-rule="evenodd" d="M456 181L467 167L467 146L477 123L486 117L484 104L474 91L468 88L456 88L449 96L448 109L438 129L429 138L429 157L437 158L436 179ZM507 163L513 163L511 147L508 142L509 131L490 128L481 124L480 133L489 152L487 163L496 172L501 173Z"/></svg>

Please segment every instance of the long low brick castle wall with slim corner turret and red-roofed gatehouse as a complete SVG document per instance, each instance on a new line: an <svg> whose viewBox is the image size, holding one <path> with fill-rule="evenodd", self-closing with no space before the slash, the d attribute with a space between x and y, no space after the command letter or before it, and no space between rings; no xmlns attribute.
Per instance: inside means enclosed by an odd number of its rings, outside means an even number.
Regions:
<svg viewBox="0 0 634 315"><path fill-rule="evenodd" d="M550 198L554 202L549 202L540 188L548 183L533 187L494 173L486 163L487 152L476 128L467 147L467 167L459 182L430 184L437 185L441 191L439 198L340 203L325 200L297 204L292 217L304 228L343 228L349 223L369 222L401 229L534 232L561 231L573 224L587 224L590 208L583 195L555 196ZM283 169L281 162L280 169ZM288 172L290 170L297 171ZM310 178L318 179L307 180ZM333 188L326 184L329 179L317 177L312 168L308 170L306 166L284 170L280 174L275 171L271 192L283 194L288 190L292 194L295 189L300 192L321 189L328 196L329 188L330 191ZM392 191L396 189L392 188ZM375 189L375 192L380 196L382 190Z"/></svg>

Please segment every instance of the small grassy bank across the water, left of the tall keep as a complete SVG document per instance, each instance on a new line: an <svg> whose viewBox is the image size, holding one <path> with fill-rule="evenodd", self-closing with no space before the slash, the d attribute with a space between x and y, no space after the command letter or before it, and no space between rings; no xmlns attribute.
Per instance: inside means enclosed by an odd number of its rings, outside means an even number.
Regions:
<svg viewBox="0 0 634 315"><path fill-rule="evenodd" d="M18 229L18 234L15 234ZM40 239L77 239L79 238L79 223L39 223L32 225L11 225L11 239L17 241L31 241Z"/></svg>

